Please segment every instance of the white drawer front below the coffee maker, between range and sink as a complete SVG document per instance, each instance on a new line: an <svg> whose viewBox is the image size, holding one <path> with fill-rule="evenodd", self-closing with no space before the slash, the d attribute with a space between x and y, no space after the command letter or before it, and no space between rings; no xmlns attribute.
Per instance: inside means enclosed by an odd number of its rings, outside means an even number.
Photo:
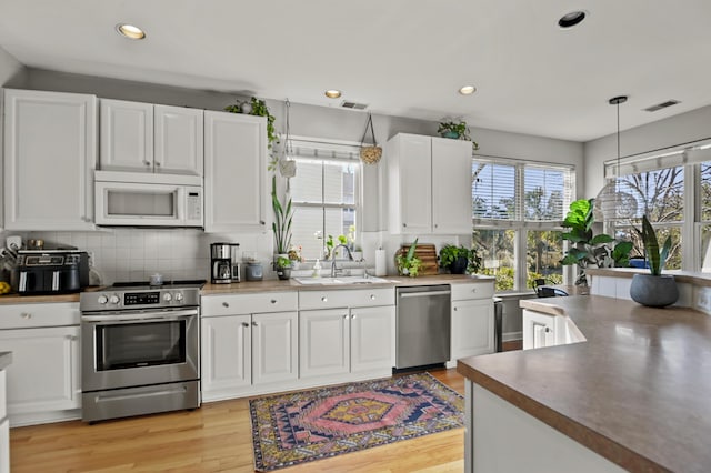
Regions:
<svg viewBox="0 0 711 473"><path fill-rule="evenodd" d="M253 294L203 295L202 316L296 311L297 292L259 292Z"/></svg>

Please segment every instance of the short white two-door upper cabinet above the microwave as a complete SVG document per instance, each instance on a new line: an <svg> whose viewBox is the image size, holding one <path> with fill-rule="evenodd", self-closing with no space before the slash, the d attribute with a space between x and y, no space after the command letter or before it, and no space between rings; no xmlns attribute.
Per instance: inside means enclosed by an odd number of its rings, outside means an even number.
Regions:
<svg viewBox="0 0 711 473"><path fill-rule="evenodd" d="M202 175L202 113L101 99L101 170Z"/></svg>

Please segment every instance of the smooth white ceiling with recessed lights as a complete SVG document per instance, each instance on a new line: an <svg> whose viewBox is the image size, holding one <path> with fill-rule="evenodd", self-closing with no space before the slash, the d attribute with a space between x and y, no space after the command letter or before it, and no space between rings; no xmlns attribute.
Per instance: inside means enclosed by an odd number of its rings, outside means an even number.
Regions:
<svg viewBox="0 0 711 473"><path fill-rule="evenodd" d="M0 0L0 47L31 68L589 141L615 131L614 95L623 130L711 104L709 20L708 0Z"/></svg>

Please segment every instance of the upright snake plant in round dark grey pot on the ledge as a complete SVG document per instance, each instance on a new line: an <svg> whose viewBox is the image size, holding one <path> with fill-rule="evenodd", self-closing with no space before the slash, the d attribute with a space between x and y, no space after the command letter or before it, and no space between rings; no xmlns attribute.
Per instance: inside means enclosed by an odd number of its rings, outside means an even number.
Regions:
<svg viewBox="0 0 711 473"><path fill-rule="evenodd" d="M662 274L671 250L671 236L667 236L660 250L657 233L647 215L642 217L642 230L638 232L644 245L650 274L634 274L630 296L634 302L651 308L671 305L679 299L679 288L673 275Z"/></svg>

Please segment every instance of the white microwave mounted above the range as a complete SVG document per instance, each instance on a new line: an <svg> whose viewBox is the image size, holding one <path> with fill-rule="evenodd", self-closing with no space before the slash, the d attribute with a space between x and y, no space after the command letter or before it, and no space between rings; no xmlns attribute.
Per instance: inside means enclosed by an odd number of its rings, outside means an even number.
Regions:
<svg viewBox="0 0 711 473"><path fill-rule="evenodd" d="M198 177L96 171L98 225L203 227Z"/></svg>

